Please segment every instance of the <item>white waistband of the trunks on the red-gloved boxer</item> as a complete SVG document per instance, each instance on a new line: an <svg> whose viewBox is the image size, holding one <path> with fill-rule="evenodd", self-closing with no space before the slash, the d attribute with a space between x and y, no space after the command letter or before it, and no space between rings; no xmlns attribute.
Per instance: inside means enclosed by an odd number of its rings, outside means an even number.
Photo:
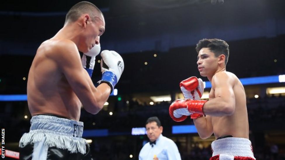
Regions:
<svg viewBox="0 0 285 160"><path fill-rule="evenodd" d="M227 154L232 156L252 157L251 141L246 138L223 138L212 142L213 156ZM255 158L254 158L255 159Z"/></svg>

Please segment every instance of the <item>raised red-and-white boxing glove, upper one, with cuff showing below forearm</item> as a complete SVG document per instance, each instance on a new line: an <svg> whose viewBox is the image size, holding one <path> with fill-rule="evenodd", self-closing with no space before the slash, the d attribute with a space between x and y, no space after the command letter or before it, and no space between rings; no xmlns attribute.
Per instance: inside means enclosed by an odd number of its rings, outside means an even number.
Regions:
<svg viewBox="0 0 285 160"><path fill-rule="evenodd" d="M180 82L180 89L184 98L190 98L194 100L200 100L204 93L204 83L201 78L190 77ZM197 119L204 115L193 113L191 119Z"/></svg>

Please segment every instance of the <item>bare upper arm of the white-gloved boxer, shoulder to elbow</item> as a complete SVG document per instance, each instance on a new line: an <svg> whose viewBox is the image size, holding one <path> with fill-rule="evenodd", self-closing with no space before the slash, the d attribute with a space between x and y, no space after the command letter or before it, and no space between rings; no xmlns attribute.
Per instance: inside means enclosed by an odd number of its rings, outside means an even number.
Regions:
<svg viewBox="0 0 285 160"><path fill-rule="evenodd" d="M68 46L60 48L58 51L55 61L61 72L65 75L73 92L77 95L83 106L88 108L88 112L93 114L99 112L101 107L99 107L97 98L99 99L100 97L94 96L97 89L94 87L87 71L82 67L77 48Z"/></svg>

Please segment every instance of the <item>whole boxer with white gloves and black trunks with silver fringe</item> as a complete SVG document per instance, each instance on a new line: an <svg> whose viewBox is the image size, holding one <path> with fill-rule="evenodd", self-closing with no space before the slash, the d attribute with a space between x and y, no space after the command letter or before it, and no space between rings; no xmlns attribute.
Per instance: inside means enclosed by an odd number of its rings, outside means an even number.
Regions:
<svg viewBox="0 0 285 160"><path fill-rule="evenodd" d="M29 133L20 139L20 159L92 159L82 138L81 107L97 114L124 71L122 57L104 50L102 79L97 88L93 85L90 77L104 31L102 12L83 1L68 11L63 28L39 46L28 75L32 119Z"/></svg>

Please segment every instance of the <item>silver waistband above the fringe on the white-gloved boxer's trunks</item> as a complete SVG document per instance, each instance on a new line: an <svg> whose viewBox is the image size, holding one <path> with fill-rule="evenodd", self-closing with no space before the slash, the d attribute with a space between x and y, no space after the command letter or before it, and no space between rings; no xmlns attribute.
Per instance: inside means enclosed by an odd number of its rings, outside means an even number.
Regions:
<svg viewBox="0 0 285 160"><path fill-rule="evenodd" d="M50 115L36 115L31 119L30 131L81 138L83 122Z"/></svg>

